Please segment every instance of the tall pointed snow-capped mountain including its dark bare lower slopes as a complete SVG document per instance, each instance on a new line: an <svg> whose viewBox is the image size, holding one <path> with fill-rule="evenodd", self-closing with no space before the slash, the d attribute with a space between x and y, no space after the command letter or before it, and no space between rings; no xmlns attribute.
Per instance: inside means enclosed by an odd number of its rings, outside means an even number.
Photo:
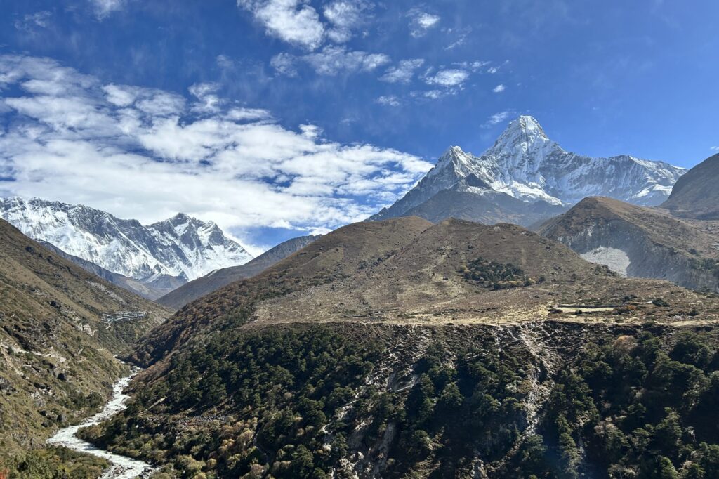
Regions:
<svg viewBox="0 0 719 479"><path fill-rule="evenodd" d="M685 171L629 155L591 158L567 152L536 119L522 116L480 156L449 148L416 187L370 219L417 215L433 222L455 217L528 225L587 196L656 206Z"/></svg>

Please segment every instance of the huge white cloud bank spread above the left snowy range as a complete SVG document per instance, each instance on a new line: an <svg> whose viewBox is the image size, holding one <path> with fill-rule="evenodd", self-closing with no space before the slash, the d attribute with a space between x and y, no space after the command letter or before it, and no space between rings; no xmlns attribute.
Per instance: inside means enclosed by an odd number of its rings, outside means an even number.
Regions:
<svg viewBox="0 0 719 479"><path fill-rule="evenodd" d="M202 99L217 95L204 84L188 101L8 55L0 84L12 86L0 91L0 176L12 178L0 181L1 196L88 204L142 222L183 211L231 232L306 231L365 218L431 168L397 150L326 140L316 125L287 129L269 111L222 98L198 115Z"/></svg>

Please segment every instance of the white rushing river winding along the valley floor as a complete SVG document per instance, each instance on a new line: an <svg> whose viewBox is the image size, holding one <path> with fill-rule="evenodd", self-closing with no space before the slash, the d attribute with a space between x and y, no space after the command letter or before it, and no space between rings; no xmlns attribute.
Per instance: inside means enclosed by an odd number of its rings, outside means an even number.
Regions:
<svg viewBox="0 0 719 479"><path fill-rule="evenodd" d="M126 401L129 396L123 394L122 390L127 387L131 379L132 375L129 375L126 378L120 378L117 380L112 388L112 398L108 403L106 403L102 411L91 418L86 419L81 424L60 429L58 434L55 434L50 437L50 439L47 439L47 442L49 444L65 446L78 452L85 452L86 454L91 454L93 456L109 460L109 462L111 462L111 467L105 471L101 479L132 479L149 477L155 468L147 464L147 462L142 462L132 459L131 457L125 457L99 449L98 447L93 446L93 444L83 441L75 436L78 429L98 424L101 421L111 418L114 414L127 407Z"/></svg>

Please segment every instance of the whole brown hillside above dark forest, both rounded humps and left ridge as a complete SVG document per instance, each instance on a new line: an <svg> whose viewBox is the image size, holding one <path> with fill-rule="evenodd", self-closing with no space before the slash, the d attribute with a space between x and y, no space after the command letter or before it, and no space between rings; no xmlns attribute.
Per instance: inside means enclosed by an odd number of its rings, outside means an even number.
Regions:
<svg viewBox="0 0 719 479"><path fill-rule="evenodd" d="M428 225L400 218L328 234L255 278L178 311L147 335L134 359L151 364L191 339L194 344L204 334L226 334L248 319L251 325L496 323L541 319L557 304L649 304L631 306L631 314L620 318L635 322L687 319L692 309L705 318L719 312L705 295L662 281L620 278L515 225L454 219ZM521 274L499 281L498 288L468 280L463 271L478 258ZM656 298L672 307L651 304ZM600 312L592 321L618 318L614 308Z"/></svg>

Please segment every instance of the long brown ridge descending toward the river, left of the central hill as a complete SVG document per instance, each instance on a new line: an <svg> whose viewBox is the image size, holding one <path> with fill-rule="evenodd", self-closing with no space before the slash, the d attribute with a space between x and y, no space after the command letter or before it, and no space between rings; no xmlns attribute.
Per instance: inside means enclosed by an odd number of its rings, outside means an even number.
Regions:
<svg viewBox="0 0 719 479"><path fill-rule="evenodd" d="M132 359L151 364L215 320L244 321L248 311L262 298L347 278L390 257L429 227L430 222L409 216L336 229L260 275L232 283L184 306L168 322L147 334Z"/></svg>

